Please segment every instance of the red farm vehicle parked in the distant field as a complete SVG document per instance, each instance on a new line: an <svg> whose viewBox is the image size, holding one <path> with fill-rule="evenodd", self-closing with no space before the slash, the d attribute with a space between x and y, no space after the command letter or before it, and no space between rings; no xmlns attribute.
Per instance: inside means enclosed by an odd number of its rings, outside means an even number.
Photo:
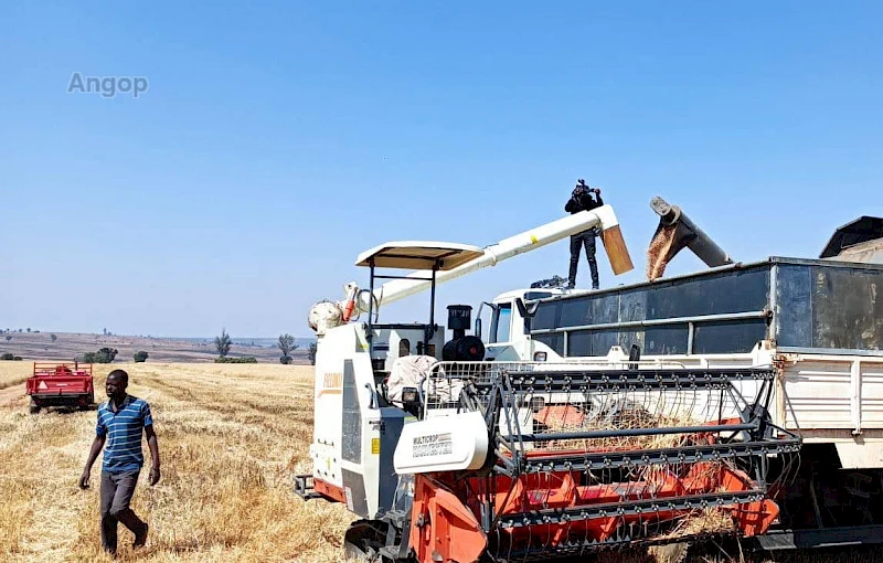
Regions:
<svg viewBox="0 0 883 563"><path fill-rule="evenodd" d="M92 364L34 362L25 381L31 414L47 406L89 408L95 404Z"/></svg>

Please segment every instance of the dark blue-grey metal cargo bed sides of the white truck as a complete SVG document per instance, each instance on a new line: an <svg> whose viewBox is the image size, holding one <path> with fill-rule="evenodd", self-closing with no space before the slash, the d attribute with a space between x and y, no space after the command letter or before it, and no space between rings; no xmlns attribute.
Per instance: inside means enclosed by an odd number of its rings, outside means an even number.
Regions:
<svg viewBox="0 0 883 563"><path fill-rule="evenodd" d="M531 338L565 357L613 346L645 354L781 352L883 355L883 266L770 257L699 274L556 296L538 304Z"/></svg>

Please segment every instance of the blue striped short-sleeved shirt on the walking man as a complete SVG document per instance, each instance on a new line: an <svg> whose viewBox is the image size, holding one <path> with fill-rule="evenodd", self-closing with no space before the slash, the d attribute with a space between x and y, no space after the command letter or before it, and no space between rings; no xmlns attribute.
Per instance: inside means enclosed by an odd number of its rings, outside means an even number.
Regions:
<svg viewBox="0 0 883 563"><path fill-rule="evenodd" d="M145 464L141 452L141 432L153 424L150 405L143 399L126 395L116 413L110 402L98 406L95 433L107 436L102 470L111 474L139 471Z"/></svg>

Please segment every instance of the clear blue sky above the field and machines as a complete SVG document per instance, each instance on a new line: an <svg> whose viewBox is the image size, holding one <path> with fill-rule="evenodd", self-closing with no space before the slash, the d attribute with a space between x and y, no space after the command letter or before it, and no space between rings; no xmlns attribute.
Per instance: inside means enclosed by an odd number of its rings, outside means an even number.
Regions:
<svg viewBox="0 0 883 563"><path fill-rule="evenodd" d="M312 302L366 284L363 249L491 244L562 216L576 178L637 266L599 255L603 286L642 279L653 195L746 262L883 213L883 4L615 4L2 3L0 325L309 336ZM440 286L437 314L567 257Z"/></svg>

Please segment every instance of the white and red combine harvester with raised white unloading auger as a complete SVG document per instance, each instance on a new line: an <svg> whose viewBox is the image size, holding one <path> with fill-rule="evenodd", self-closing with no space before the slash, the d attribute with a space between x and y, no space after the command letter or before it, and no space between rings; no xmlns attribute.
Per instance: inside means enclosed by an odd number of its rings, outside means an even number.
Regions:
<svg viewBox="0 0 883 563"><path fill-rule="evenodd" d="M631 269L605 205L485 249L377 246L357 262L370 268L368 290L351 284L347 302L310 311L319 334L313 470L296 490L361 517L347 532L349 556L549 561L673 544L677 560L688 541L760 534L775 521L769 458L786 464L800 440L768 415L772 367L684 369L639 353L543 361L530 341L508 361L486 355L480 331L466 336L468 306L448 307L454 338L445 343L437 283L589 227L602 230L614 272ZM383 276L379 267L418 272ZM375 289L377 278L393 280ZM376 322L380 305L423 289L428 323ZM532 314L518 305L526 329ZM345 322L357 308L366 320ZM490 330L499 336L501 321Z"/></svg>

